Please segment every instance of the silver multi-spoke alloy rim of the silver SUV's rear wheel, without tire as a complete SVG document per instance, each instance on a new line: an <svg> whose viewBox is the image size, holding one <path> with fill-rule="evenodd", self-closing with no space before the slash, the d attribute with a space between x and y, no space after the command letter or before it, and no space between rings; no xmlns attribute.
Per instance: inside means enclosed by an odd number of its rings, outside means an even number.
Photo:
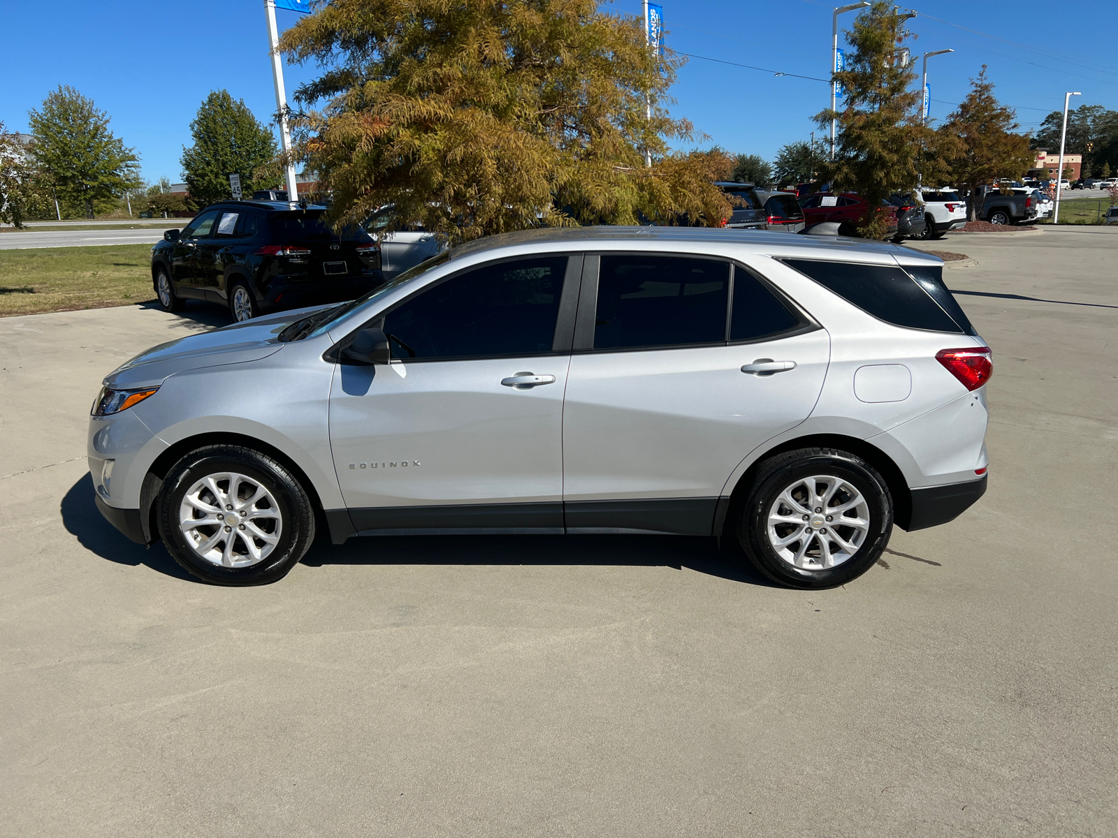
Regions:
<svg viewBox="0 0 1118 838"><path fill-rule="evenodd" d="M804 477L769 507L773 551L797 570L827 570L853 556L870 532L870 505L849 480Z"/></svg>

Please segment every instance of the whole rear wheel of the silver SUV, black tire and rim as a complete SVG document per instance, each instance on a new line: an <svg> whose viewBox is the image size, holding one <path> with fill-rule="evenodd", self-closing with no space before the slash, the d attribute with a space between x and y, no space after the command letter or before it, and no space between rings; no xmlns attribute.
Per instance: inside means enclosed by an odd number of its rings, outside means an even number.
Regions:
<svg viewBox="0 0 1118 838"><path fill-rule="evenodd" d="M757 570L789 588L834 588L868 571L889 544L893 501L861 457L803 448L758 470L738 514Z"/></svg>

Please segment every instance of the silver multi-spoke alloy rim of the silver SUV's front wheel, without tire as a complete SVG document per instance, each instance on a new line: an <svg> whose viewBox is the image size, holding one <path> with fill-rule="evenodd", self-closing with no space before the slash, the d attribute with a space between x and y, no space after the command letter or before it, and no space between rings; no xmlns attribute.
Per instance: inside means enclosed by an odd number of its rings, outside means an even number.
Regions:
<svg viewBox="0 0 1118 838"><path fill-rule="evenodd" d="M210 564L248 568L264 561L283 534L275 496L259 480L235 472L197 480L179 506L186 543Z"/></svg>

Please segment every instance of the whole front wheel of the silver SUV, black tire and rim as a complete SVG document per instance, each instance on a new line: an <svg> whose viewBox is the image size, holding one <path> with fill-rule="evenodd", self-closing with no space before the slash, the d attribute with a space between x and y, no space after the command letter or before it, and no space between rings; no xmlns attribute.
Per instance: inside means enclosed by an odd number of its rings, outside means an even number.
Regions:
<svg viewBox="0 0 1118 838"><path fill-rule="evenodd" d="M299 479L272 457L215 445L168 474L159 507L168 552L214 584L282 579L314 540L314 508Z"/></svg>

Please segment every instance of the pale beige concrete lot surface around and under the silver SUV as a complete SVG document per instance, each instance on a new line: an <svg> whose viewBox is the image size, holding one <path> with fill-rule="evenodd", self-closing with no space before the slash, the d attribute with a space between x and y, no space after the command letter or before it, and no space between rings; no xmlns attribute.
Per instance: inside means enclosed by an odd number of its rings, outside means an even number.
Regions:
<svg viewBox="0 0 1118 838"><path fill-rule="evenodd" d="M211 588L101 520L104 373L215 323L0 320L0 832L1112 836L1118 230L959 235L987 495L833 591L704 540L318 544Z"/></svg>

